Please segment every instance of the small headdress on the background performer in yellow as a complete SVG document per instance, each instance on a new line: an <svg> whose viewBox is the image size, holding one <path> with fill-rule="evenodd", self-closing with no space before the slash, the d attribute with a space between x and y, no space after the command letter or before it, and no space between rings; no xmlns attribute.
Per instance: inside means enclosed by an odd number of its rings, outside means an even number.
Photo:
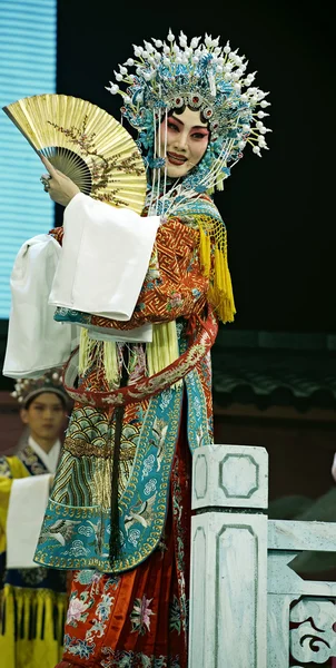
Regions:
<svg viewBox="0 0 336 668"><path fill-rule="evenodd" d="M65 407L70 404L70 397L62 385L59 369L51 369L39 379L18 379L14 387L11 395L18 400L22 409L27 406L29 401L45 392L52 392L60 396Z"/></svg>

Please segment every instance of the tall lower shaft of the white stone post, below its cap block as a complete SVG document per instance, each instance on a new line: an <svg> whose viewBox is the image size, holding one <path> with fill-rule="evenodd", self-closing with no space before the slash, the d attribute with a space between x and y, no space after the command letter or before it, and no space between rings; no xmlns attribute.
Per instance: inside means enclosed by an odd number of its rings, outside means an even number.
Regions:
<svg viewBox="0 0 336 668"><path fill-rule="evenodd" d="M264 515L192 518L189 668L266 668Z"/></svg>

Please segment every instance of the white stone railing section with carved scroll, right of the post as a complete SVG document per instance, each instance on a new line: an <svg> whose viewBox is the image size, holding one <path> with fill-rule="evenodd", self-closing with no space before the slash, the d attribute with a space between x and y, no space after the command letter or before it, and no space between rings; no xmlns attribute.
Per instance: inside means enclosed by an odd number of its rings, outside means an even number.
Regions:
<svg viewBox="0 0 336 668"><path fill-rule="evenodd" d="M267 668L287 668L289 648L293 668L336 657L336 582L303 580L291 570L303 550L336 552L336 523L269 520Z"/></svg>

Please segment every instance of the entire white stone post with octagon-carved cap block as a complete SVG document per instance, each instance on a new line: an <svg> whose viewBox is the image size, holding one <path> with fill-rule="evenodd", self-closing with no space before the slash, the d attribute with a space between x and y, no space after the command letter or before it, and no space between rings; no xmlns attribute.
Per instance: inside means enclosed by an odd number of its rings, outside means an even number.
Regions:
<svg viewBox="0 0 336 668"><path fill-rule="evenodd" d="M267 668L267 452L198 448L192 473L189 668Z"/></svg>

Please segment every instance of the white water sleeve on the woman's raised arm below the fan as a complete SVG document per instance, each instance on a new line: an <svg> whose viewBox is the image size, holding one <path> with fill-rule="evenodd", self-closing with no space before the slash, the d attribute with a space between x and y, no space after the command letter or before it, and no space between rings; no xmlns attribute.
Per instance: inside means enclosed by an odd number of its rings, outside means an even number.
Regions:
<svg viewBox="0 0 336 668"><path fill-rule="evenodd" d="M49 303L130 320L148 269L159 216L142 218L79 193L65 212L62 254Z"/></svg>

